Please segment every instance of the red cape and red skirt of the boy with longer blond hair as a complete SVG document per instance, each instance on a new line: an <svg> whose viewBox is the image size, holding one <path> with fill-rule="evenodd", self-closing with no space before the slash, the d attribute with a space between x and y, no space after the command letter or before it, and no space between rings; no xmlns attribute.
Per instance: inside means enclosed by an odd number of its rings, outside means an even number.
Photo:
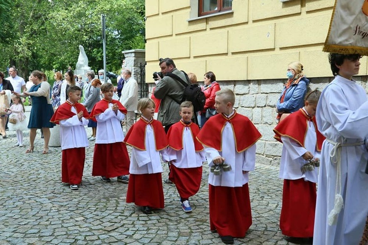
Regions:
<svg viewBox="0 0 368 245"><path fill-rule="evenodd" d="M157 120L147 122L143 118L131 126L125 136L124 143L138 150L146 150L146 127L148 124L151 125L155 134L156 150L159 151L166 148L168 143L162 124ZM134 202L137 206L164 208L161 173L130 174L127 203L130 202Z"/></svg>

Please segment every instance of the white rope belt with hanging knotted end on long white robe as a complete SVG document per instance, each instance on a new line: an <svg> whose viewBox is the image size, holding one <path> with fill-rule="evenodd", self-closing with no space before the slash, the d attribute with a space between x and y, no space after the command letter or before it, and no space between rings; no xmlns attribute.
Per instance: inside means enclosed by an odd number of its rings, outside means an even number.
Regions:
<svg viewBox="0 0 368 245"><path fill-rule="evenodd" d="M342 144L338 142L334 142L330 139L326 139L327 142L334 145L330 152L331 162L336 164L337 166L337 175L336 175L336 189L335 189L335 202L334 208L331 210L330 214L328 215L328 225L336 224L338 215L342 210L343 207L343 198L341 196L341 148L342 147L356 147L364 145L363 142L357 143L350 143L350 144Z"/></svg>

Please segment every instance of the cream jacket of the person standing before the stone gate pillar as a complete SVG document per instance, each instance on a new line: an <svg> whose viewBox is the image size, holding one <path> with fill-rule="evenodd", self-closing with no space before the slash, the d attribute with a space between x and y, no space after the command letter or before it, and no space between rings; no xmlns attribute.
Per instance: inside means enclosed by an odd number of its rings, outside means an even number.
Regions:
<svg viewBox="0 0 368 245"><path fill-rule="evenodd" d="M128 111L135 111L138 106L138 83L133 77L125 80L120 102Z"/></svg>

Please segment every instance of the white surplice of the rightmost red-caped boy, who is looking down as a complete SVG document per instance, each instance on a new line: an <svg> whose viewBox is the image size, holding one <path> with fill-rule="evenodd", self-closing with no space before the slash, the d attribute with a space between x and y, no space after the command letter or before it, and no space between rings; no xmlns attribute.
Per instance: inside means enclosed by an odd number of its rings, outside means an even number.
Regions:
<svg viewBox="0 0 368 245"><path fill-rule="evenodd" d="M302 173L301 167L308 163L302 155L310 151L315 158L320 158L320 152L316 150L317 134L313 122L308 122L308 130L304 140L304 147L300 146L296 141L286 136L281 136L284 144L281 154L280 174L282 179L300 179L308 180L316 183L318 177L318 169L314 171Z"/></svg>

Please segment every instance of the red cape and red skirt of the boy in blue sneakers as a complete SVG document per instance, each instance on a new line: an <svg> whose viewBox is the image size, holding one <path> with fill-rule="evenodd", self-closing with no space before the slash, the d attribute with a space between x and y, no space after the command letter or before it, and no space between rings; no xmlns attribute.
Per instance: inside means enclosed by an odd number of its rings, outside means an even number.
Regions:
<svg viewBox="0 0 368 245"><path fill-rule="evenodd" d="M198 125L195 123L185 124L182 120L173 124L167 132L169 147L178 151L183 150L183 132L185 128L189 128L191 131L195 151L202 151L203 146L196 138L199 133ZM190 196L194 196L201 186L202 166L197 168L177 168L174 164L170 164L169 179L175 183L179 196L187 199Z"/></svg>

